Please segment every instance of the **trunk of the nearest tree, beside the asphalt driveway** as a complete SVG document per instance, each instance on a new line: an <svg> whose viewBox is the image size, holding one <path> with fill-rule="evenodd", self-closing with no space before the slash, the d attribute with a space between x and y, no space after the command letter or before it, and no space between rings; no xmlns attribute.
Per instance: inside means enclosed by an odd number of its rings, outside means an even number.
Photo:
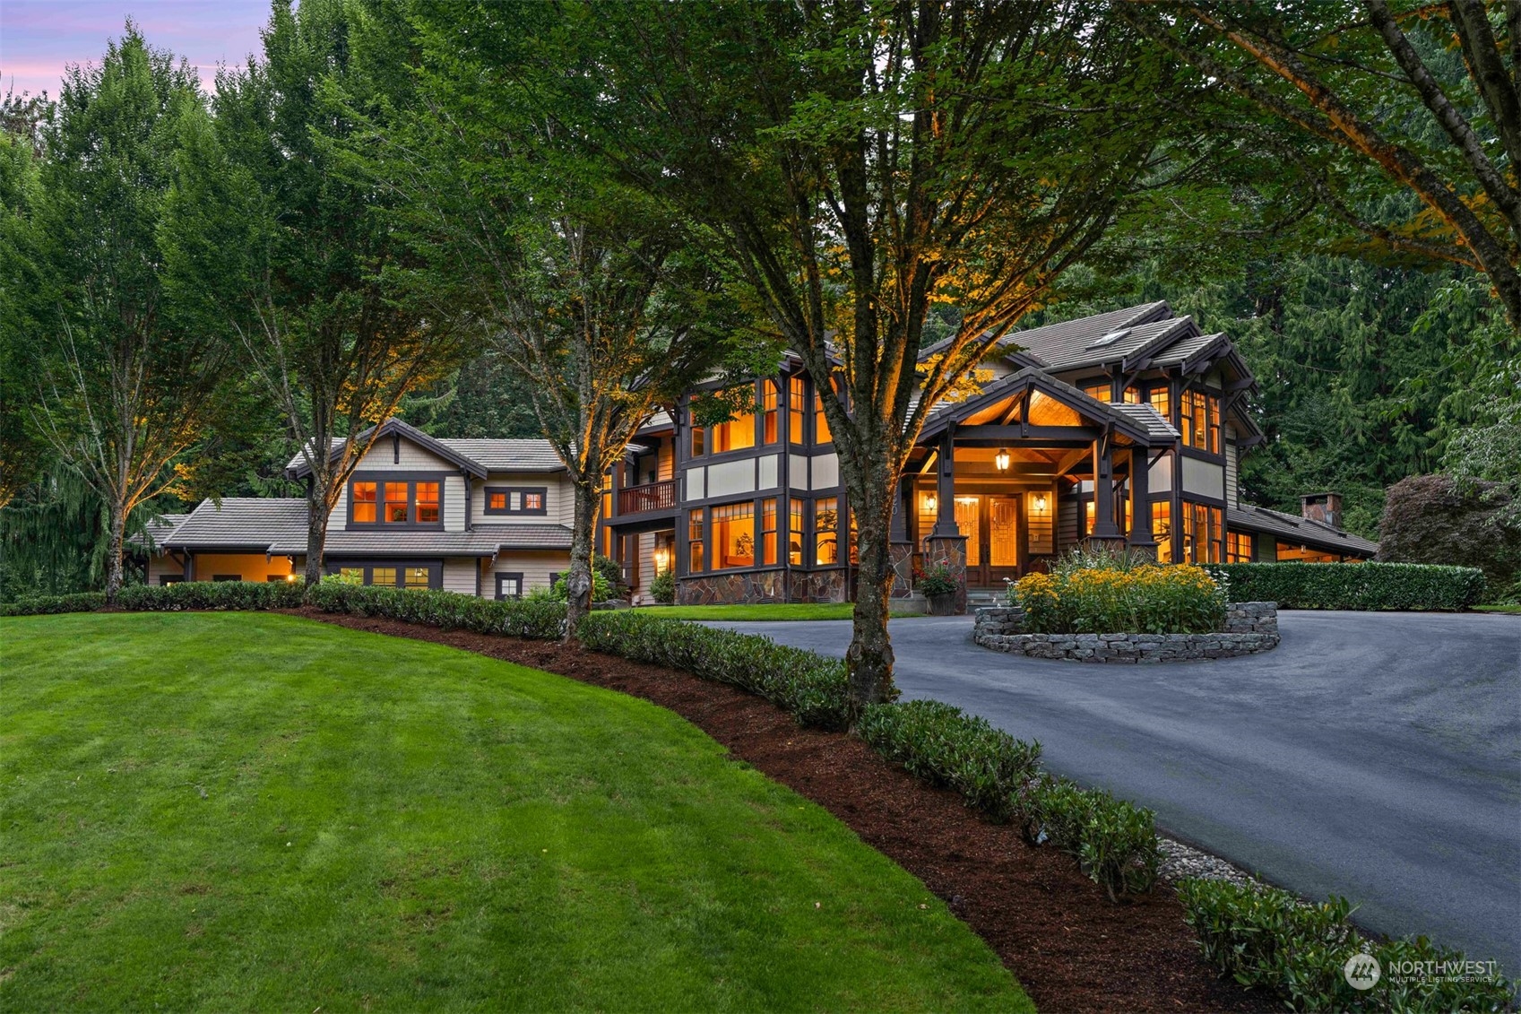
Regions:
<svg viewBox="0 0 1521 1014"><path fill-rule="evenodd" d="M875 487L876 484L873 484ZM893 594L891 484L873 489L868 502L856 504L856 603L852 617L846 670L850 681L850 720L868 703L897 696L893 687L893 643L887 633L888 600ZM876 502L870 502L876 501ZM849 522L841 519L841 528Z"/></svg>

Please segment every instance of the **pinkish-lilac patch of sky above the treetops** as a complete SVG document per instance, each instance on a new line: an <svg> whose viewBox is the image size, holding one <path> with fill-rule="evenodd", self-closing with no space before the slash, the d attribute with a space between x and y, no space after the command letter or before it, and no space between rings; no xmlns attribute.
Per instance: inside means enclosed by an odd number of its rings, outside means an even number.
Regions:
<svg viewBox="0 0 1521 1014"><path fill-rule="evenodd" d="M58 97L65 64L99 62L131 17L148 43L190 61L210 88L218 64L260 49L269 0L0 0L0 94Z"/></svg>

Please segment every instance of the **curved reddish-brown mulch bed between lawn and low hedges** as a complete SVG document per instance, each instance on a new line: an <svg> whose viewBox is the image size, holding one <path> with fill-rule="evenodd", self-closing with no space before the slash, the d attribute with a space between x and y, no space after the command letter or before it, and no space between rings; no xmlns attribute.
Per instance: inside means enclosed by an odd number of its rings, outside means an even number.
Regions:
<svg viewBox="0 0 1521 1014"><path fill-rule="evenodd" d="M324 623L433 641L643 697L675 711L770 778L820 804L925 882L1043 1011L1270 1011L1267 996L1199 958L1171 888L1110 904L1071 857L1031 848L960 796L931 789L841 732L800 729L770 702L687 673L545 641L295 611Z"/></svg>

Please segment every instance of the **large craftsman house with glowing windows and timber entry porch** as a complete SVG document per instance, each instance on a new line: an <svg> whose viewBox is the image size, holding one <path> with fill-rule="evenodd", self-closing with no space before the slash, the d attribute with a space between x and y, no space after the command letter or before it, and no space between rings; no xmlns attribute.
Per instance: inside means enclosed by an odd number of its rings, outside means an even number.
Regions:
<svg viewBox="0 0 1521 1014"><path fill-rule="evenodd" d="M925 355L934 355L926 349ZM893 556L964 571L970 592L1045 566L1084 540L1162 562L1361 560L1340 498L1300 516L1244 504L1240 455L1261 442L1256 388L1226 335L1165 301L1010 335L980 393L935 405L899 490ZM812 382L794 356L756 385L756 411L694 426L657 413L611 470L598 548L634 601L672 571L677 598L841 601L850 504ZM301 478L301 458L289 475ZM399 420L329 522L330 571L371 585L508 597L569 562L570 484L543 440L440 440ZM284 580L306 551L303 499L205 501L154 533L151 580Z"/></svg>

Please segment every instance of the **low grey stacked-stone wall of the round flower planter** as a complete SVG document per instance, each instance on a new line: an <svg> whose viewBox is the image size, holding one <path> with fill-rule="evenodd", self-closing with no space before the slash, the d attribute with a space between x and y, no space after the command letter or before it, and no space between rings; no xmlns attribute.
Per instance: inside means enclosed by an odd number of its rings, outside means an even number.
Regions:
<svg viewBox="0 0 1521 1014"><path fill-rule="evenodd" d="M1186 662L1278 647L1278 603L1234 601L1218 633L1021 633L1024 609L978 609L972 639L993 652L1075 662Z"/></svg>

